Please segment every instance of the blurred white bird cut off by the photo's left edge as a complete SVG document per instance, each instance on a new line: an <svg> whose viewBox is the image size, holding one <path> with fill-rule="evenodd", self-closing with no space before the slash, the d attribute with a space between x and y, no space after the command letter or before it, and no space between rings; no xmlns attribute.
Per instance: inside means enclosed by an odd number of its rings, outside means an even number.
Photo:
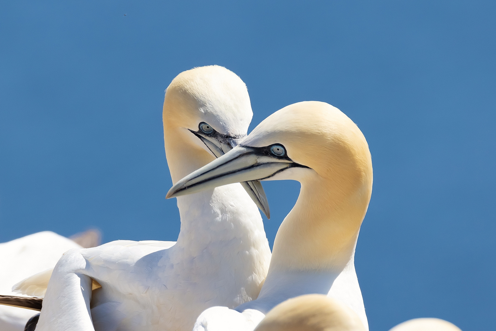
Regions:
<svg viewBox="0 0 496 331"><path fill-rule="evenodd" d="M62 254L69 249L98 245L96 242L99 240L99 234L90 230L71 239L44 231L1 243L0 294L16 295L12 291L15 283L34 273L53 268ZM40 281L48 282L48 279ZM0 306L0 330L23 331L26 322L35 314L37 312L30 309Z"/></svg>

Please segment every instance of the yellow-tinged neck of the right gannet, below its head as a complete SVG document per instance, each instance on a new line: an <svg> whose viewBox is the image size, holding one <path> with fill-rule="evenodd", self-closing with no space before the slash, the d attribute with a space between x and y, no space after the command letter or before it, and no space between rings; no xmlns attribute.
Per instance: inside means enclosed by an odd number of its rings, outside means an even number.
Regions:
<svg viewBox="0 0 496 331"><path fill-rule="evenodd" d="M271 271L339 274L353 258L367 211L372 177L350 183L344 177L310 176L282 222L272 250Z"/></svg>

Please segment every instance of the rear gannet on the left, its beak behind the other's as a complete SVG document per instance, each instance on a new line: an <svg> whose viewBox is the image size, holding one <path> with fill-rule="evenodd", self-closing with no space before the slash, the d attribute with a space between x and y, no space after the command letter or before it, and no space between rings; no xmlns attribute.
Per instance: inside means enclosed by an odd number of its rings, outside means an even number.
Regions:
<svg viewBox="0 0 496 331"><path fill-rule="evenodd" d="M172 181L231 149L251 117L246 85L232 71L206 66L179 74L163 111ZM260 183L245 188L266 204ZM177 242L121 240L66 252L50 278L36 330L189 331L208 307L234 308L256 298L271 253L260 213L242 185L181 197L178 207Z"/></svg>

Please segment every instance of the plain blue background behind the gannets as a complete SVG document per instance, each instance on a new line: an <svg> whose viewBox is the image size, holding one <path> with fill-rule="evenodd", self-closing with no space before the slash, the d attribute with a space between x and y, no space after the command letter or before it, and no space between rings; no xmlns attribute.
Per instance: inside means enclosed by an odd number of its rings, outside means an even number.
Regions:
<svg viewBox="0 0 496 331"><path fill-rule="evenodd" d="M216 64L248 85L250 130L318 100L364 132L374 186L355 264L371 331L417 317L491 330L495 17L494 0L2 1L0 242L92 227L176 240L164 90ZM299 183L263 186L272 243Z"/></svg>

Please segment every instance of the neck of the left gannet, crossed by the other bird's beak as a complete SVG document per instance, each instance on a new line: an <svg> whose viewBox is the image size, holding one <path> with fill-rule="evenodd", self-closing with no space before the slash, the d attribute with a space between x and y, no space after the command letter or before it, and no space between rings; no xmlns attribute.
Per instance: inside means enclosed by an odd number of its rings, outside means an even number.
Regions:
<svg viewBox="0 0 496 331"><path fill-rule="evenodd" d="M164 125L164 140L173 183L215 159L186 129ZM181 196L177 201L181 231L176 247L185 248L191 256L215 242L231 242L236 249L247 245L248 250L249 245L267 245L260 212L239 183Z"/></svg>

